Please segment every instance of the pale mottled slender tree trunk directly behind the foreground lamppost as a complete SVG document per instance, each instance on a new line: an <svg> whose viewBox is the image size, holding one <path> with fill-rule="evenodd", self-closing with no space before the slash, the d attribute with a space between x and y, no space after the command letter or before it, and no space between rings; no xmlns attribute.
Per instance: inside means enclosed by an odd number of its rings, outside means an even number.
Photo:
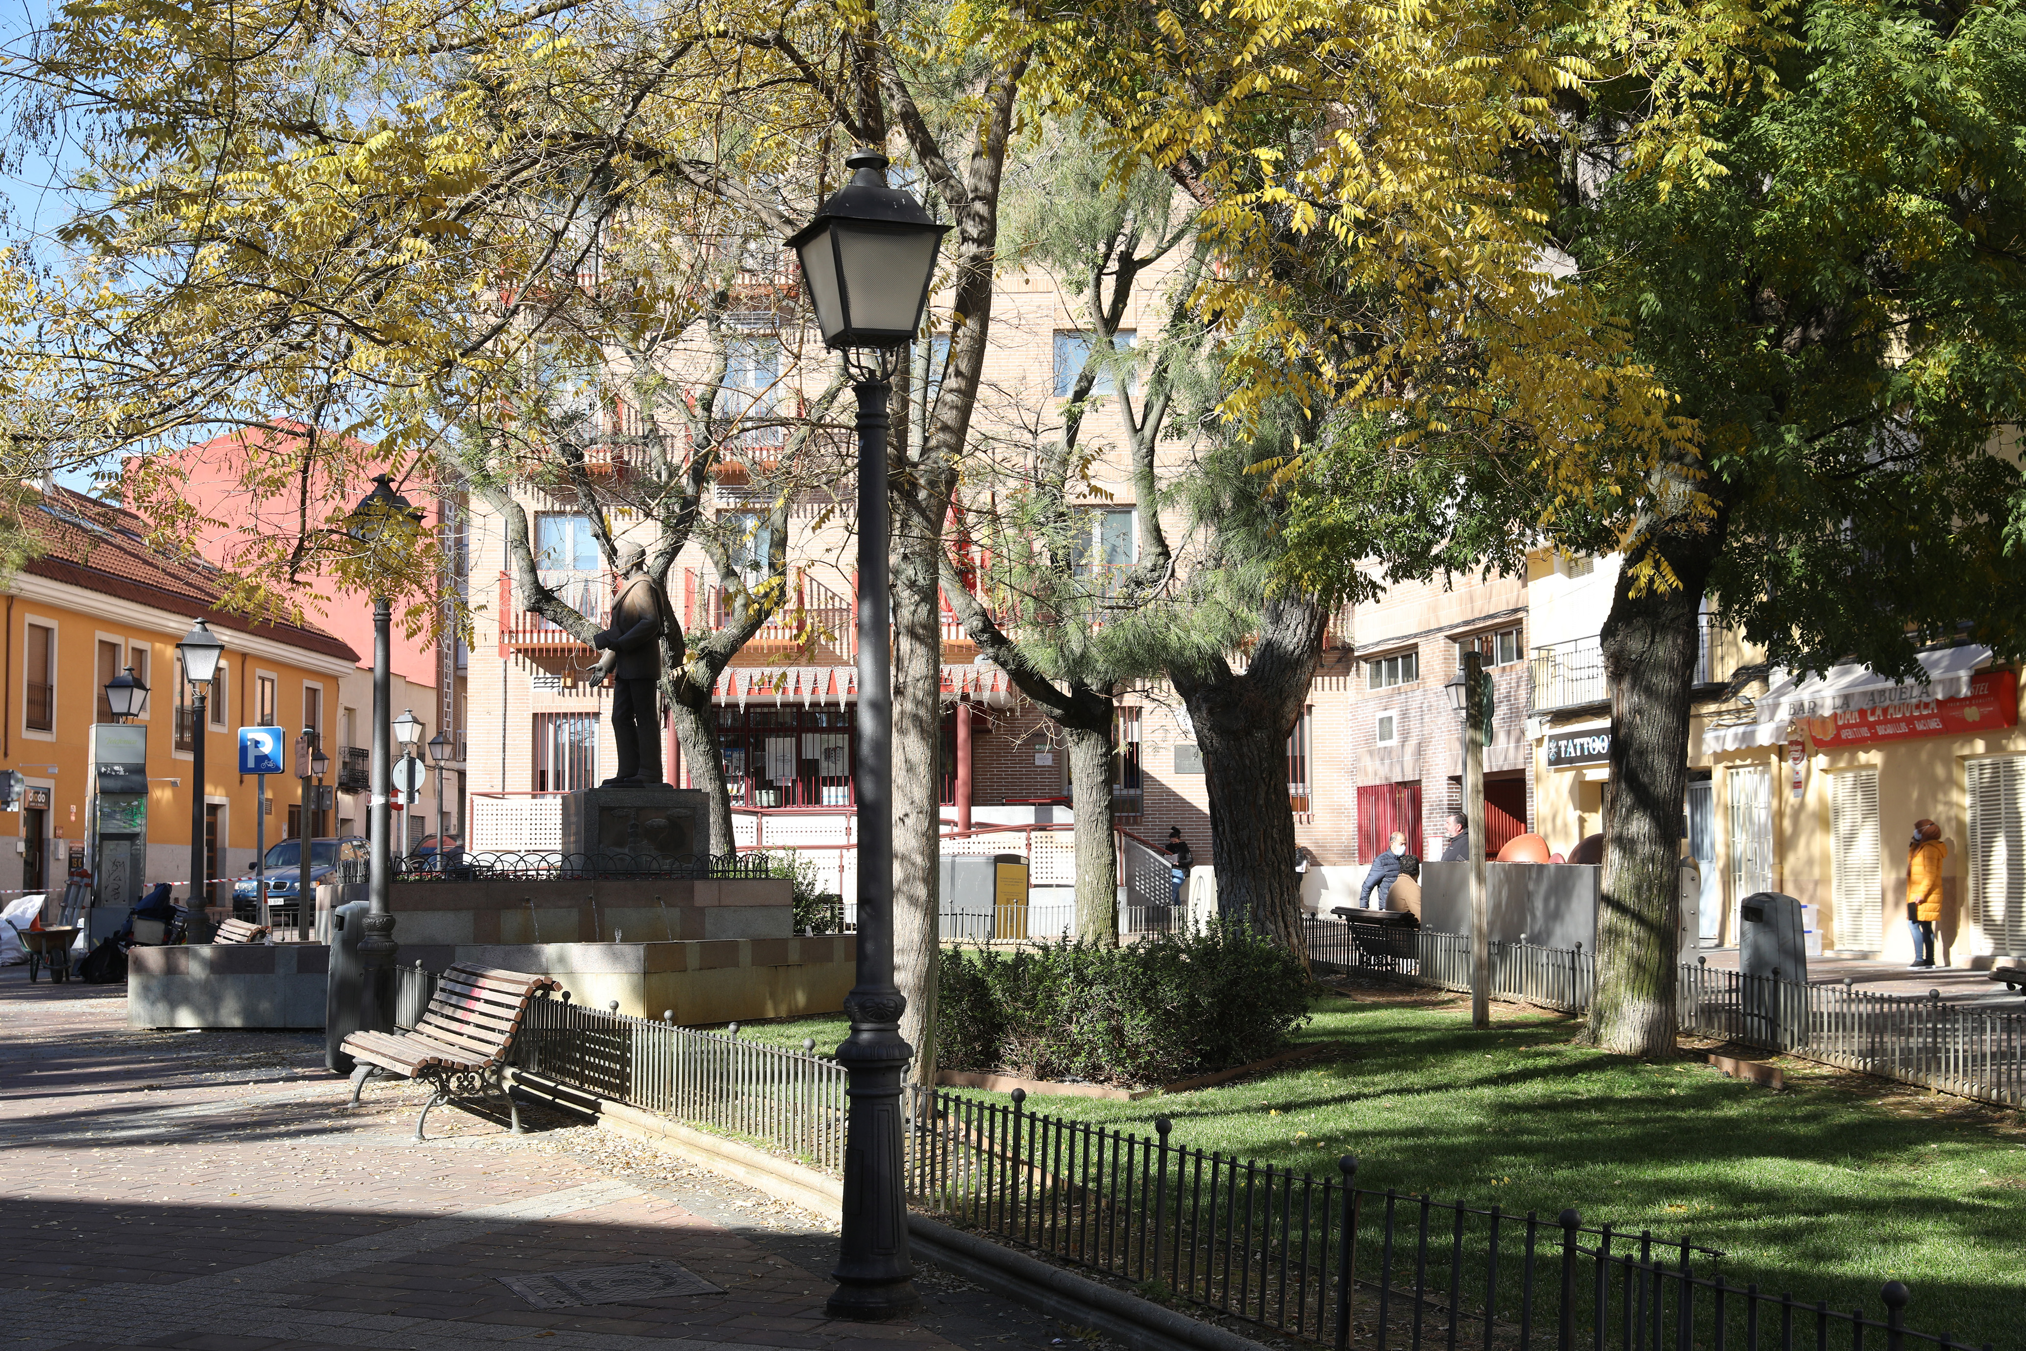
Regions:
<svg viewBox="0 0 2026 1351"><path fill-rule="evenodd" d="M914 1047L914 1082L936 1082L936 962L942 877L942 614L934 506L893 510L893 984L908 997L900 1035Z"/></svg>

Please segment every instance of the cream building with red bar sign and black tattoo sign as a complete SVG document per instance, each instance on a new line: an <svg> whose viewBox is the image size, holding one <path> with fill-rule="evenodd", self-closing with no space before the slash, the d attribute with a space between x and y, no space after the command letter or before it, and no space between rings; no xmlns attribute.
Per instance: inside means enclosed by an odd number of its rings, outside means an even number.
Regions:
<svg viewBox="0 0 2026 1351"><path fill-rule="evenodd" d="M1596 634L1619 557L1530 557L1530 674L1542 826L1603 828L1611 705ZM1807 905L1827 954L1908 960L1906 841L1935 820L1949 847L1939 960L2026 954L2026 733L2018 672L1977 644L1919 654L1915 679L1862 664L1795 672L1700 622L1684 851L1700 869L1708 944L1734 944L1738 901Z"/></svg>

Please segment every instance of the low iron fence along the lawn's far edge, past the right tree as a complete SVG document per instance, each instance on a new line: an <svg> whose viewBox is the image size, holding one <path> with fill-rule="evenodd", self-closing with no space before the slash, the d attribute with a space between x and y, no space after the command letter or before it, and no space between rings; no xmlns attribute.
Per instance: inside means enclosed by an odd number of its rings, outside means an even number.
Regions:
<svg viewBox="0 0 2026 1351"><path fill-rule="evenodd" d="M1471 940L1461 934L1311 918L1309 956L1325 970L1471 988ZM1594 988L1596 960L1580 946L1491 944L1493 999L1580 1013ZM1686 1033L2026 1106L2026 1013L1949 1005L1937 990L1872 995L1850 980L1746 976L1708 958L1682 966L1678 999Z"/></svg>

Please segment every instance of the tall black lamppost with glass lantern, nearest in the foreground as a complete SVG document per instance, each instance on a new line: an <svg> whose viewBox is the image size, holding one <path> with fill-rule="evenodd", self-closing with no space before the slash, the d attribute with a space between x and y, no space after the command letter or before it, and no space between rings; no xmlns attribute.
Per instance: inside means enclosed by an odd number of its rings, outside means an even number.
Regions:
<svg viewBox="0 0 2026 1351"><path fill-rule="evenodd" d="M887 397L922 326L936 225L885 182L887 158L855 150L857 170L788 247L823 342L845 352L859 395L859 934L857 984L845 997L851 1037L837 1047L845 1096L845 1215L835 1319L895 1319L914 1310L908 1197L902 1173L902 1071L914 1049L900 1035L908 1001L893 986L893 695L887 652Z"/></svg>

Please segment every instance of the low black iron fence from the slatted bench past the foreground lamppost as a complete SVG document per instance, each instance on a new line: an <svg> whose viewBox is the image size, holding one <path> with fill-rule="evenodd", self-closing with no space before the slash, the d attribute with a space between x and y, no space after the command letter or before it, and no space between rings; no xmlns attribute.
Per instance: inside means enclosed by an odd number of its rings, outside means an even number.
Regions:
<svg viewBox="0 0 2026 1351"><path fill-rule="evenodd" d="M535 1003L519 1063L600 1098L663 1112L843 1169L845 1074L829 1057L567 999ZM1955 1345L1908 1331L1906 1286L1805 1302L1732 1284L1724 1254L1649 1231L1544 1219L1321 1177L1155 1134L1029 1112L1011 1100L914 1092L912 1205L1151 1296L1307 1343L1534 1351ZM1870 1308L1866 1308L1866 1304Z"/></svg>

